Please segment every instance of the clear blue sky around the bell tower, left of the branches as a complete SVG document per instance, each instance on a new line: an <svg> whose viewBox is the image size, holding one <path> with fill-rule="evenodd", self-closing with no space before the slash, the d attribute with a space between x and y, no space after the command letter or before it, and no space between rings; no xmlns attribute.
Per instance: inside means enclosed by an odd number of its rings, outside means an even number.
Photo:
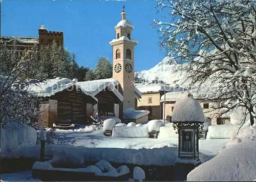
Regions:
<svg viewBox="0 0 256 182"><path fill-rule="evenodd" d="M148 70L161 61L165 52L158 45L158 28L151 29L157 1L10 1L1 2L1 35L38 37L38 28L63 31L64 46L75 53L81 66L95 67L99 56L112 61L109 42L115 38L114 27L121 20L122 5L126 18L134 24L135 71Z"/></svg>

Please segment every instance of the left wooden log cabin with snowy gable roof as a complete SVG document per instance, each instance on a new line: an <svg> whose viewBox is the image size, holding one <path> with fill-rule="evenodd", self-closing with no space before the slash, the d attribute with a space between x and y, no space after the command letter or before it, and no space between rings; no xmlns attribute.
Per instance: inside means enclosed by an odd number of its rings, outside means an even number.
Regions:
<svg viewBox="0 0 256 182"><path fill-rule="evenodd" d="M31 85L29 92L40 98L38 122L45 127L88 124L87 105L97 99L68 78L56 78Z"/></svg>

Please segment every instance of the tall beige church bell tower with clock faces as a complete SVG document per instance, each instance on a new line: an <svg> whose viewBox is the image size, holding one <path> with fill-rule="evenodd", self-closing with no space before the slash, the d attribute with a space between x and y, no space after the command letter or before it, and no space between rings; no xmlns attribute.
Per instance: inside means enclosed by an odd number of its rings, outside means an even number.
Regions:
<svg viewBox="0 0 256 182"><path fill-rule="evenodd" d="M121 21L115 26L116 39L110 42L113 47L113 78L118 80L123 96L123 110L135 108L134 91L134 47L137 40L132 39L133 24L126 19L126 13L121 13Z"/></svg>

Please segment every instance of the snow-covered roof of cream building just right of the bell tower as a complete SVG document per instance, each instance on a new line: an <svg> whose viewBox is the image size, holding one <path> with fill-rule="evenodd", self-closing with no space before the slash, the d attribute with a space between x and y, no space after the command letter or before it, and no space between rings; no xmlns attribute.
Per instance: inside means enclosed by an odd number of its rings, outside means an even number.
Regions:
<svg viewBox="0 0 256 182"><path fill-rule="evenodd" d="M164 83L148 83L148 84L140 84L137 85L136 88L140 90L141 93L150 93L150 92L160 92L160 91L166 91L166 92L178 92L183 91L185 88L179 87L178 84L166 84Z"/></svg>

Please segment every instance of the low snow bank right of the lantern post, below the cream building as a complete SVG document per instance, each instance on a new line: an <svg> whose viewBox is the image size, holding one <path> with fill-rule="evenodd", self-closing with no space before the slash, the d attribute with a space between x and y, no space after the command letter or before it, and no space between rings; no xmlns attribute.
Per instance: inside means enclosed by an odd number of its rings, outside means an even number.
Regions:
<svg viewBox="0 0 256 182"><path fill-rule="evenodd" d="M239 127L240 125L211 125L206 139L230 139L238 132Z"/></svg>

